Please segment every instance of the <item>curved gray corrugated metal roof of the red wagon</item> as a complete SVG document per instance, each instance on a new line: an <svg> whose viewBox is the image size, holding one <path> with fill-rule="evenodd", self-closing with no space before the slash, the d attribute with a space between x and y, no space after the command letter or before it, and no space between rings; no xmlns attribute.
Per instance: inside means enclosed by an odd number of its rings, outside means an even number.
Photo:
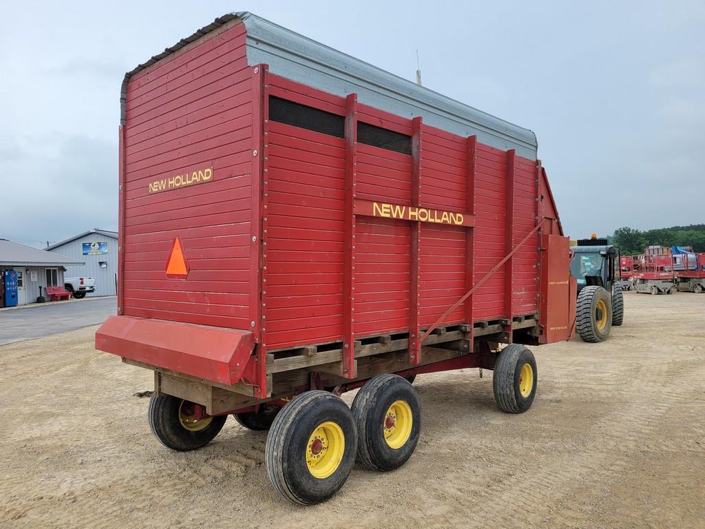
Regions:
<svg viewBox="0 0 705 529"><path fill-rule="evenodd" d="M125 74L121 93L121 123L125 123L125 100L130 78L137 72L215 31L231 20L240 19L247 28L247 63L268 64L269 72L341 97L357 93L358 101L391 114L412 118L450 133L470 136L501 150L536 159L536 135L527 128L496 118L400 78L341 51L299 35L264 18L248 13L228 13L216 18L190 37L153 56ZM459 66L463 67L463 66Z"/></svg>

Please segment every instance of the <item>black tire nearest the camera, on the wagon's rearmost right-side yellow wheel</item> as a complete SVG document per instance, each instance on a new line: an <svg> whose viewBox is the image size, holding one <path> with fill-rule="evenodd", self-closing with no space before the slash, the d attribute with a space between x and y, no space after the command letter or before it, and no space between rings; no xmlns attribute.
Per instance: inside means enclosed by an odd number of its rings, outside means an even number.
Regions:
<svg viewBox="0 0 705 529"><path fill-rule="evenodd" d="M343 436L339 454L340 462L329 475L316 477L315 465L307 461L313 453L309 440L326 422L332 422ZM332 439L332 437L331 437ZM326 456L335 456L333 442L323 445L319 452L324 463ZM357 429L350 408L328 391L306 391L281 408L274 418L266 439L265 463L269 480L286 499L298 504L311 505L326 501L343 487L355 466ZM310 468L309 468L310 467Z"/></svg>

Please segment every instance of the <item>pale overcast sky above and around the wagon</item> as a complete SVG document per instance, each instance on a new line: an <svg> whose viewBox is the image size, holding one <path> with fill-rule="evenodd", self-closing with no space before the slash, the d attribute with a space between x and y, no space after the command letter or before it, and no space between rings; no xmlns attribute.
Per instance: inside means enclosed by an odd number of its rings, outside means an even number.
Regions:
<svg viewBox="0 0 705 529"><path fill-rule="evenodd" d="M571 236L705 222L705 2L0 0L0 237L117 227L125 71L248 10L531 128Z"/></svg>

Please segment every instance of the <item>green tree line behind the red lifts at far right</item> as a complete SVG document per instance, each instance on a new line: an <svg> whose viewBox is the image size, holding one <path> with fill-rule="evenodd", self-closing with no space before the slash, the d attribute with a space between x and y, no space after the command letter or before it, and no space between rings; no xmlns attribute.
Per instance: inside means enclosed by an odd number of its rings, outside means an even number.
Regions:
<svg viewBox="0 0 705 529"><path fill-rule="evenodd" d="M672 226L642 231L625 226L615 230L611 237L622 255L639 255L652 244L664 246L692 246L696 252L705 252L705 224Z"/></svg>

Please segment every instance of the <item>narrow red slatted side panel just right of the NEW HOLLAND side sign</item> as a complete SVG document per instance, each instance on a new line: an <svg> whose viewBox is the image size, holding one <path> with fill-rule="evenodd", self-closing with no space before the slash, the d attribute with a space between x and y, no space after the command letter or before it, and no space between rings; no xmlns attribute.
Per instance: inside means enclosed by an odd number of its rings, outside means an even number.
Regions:
<svg viewBox="0 0 705 529"><path fill-rule="evenodd" d="M481 143L475 152L474 279L479 281L500 262L505 251L507 154ZM504 317L505 270L499 269L474 293L474 319Z"/></svg>

